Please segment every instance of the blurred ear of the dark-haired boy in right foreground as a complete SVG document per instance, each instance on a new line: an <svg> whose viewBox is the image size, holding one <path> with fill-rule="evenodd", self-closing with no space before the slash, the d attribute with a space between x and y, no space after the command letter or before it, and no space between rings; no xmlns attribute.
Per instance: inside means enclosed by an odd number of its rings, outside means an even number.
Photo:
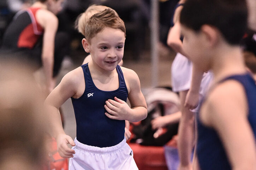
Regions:
<svg viewBox="0 0 256 170"><path fill-rule="evenodd" d="M201 27L201 31L204 34L206 45L213 47L216 45L216 43L218 43L219 31L216 28L210 25L203 25Z"/></svg>

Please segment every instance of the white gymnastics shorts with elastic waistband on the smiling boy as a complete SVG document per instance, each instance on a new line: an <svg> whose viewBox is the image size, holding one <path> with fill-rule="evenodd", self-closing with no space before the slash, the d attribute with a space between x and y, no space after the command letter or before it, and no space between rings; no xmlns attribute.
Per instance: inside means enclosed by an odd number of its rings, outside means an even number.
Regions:
<svg viewBox="0 0 256 170"><path fill-rule="evenodd" d="M133 159L133 151L126 139L111 147L95 147L80 143L76 146L73 158L69 159L69 170L138 170Z"/></svg>

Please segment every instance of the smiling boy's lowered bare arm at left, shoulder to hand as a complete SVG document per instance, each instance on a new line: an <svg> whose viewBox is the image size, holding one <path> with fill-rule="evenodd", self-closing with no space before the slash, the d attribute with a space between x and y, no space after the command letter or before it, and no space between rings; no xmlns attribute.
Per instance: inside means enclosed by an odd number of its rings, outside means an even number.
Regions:
<svg viewBox="0 0 256 170"><path fill-rule="evenodd" d="M52 131L50 134L57 140L58 152L63 158L73 157L75 151L71 150L68 147L68 144L75 146L75 143L63 130L58 109L66 100L76 94L76 87L79 82L77 80L79 76L76 74L76 72L79 71L78 69L66 74L60 84L53 89L45 100L46 109L51 115L50 121Z"/></svg>

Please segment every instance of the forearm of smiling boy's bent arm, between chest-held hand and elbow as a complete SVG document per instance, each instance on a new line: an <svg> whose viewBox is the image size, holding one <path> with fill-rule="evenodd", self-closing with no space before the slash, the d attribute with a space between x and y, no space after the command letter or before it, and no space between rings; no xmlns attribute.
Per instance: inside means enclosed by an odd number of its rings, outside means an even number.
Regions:
<svg viewBox="0 0 256 170"><path fill-rule="evenodd" d="M133 107L127 121L139 122L147 117L147 109L143 106Z"/></svg>

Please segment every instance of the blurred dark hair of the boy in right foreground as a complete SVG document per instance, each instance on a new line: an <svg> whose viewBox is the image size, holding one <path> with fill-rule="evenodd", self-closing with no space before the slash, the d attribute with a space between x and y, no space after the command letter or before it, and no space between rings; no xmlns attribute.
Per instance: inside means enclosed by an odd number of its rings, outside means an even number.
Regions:
<svg viewBox="0 0 256 170"><path fill-rule="evenodd" d="M207 24L217 28L231 45L239 45L247 28L246 0L187 0L180 23L194 31Z"/></svg>

